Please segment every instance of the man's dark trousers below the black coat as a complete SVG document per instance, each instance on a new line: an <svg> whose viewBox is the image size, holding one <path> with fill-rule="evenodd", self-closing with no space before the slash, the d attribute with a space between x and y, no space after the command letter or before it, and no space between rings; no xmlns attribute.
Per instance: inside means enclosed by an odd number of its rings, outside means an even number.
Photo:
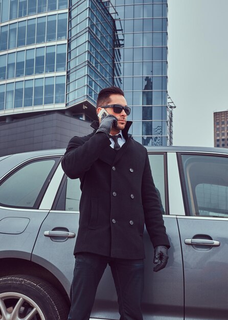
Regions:
<svg viewBox="0 0 228 320"><path fill-rule="evenodd" d="M72 305L68 320L89 320L98 284L109 264L115 282L120 320L143 320L141 301L144 261L116 259L90 253L76 255Z"/></svg>

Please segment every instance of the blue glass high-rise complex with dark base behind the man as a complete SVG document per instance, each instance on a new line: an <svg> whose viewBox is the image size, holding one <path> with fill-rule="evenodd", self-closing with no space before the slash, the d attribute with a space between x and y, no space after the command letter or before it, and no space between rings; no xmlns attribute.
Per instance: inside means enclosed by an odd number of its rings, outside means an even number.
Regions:
<svg viewBox="0 0 228 320"><path fill-rule="evenodd" d="M91 132L110 85L132 107L135 140L172 144L167 1L0 0L0 155Z"/></svg>

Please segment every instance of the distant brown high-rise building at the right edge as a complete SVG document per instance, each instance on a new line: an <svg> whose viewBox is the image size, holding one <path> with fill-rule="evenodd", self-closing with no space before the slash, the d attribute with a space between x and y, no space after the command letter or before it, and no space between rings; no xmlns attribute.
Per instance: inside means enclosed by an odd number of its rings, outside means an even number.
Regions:
<svg viewBox="0 0 228 320"><path fill-rule="evenodd" d="M228 110L214 112L214 147L228 148Z"/></svg>

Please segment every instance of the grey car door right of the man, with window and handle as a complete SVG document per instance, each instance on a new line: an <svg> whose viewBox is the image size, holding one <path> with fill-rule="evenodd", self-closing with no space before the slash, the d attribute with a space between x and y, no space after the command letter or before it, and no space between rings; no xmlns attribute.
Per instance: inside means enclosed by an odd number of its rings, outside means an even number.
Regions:
<svg viewBox="0 0 228 320"><path fill-rule="evenodd" d="M186 216L178 217L185 319L227 319L228 158L181 153Z"/></svg>

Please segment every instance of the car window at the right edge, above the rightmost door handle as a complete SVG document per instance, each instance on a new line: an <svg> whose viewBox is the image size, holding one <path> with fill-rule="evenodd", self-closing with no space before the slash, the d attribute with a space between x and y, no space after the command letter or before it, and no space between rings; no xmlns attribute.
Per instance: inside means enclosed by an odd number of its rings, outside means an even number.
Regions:
<svg viewBox="0 0 228 320"><path fill-rule="evenodd" d="M186 154L181 158L190 214L228 218L228 158Z"/></svg>

